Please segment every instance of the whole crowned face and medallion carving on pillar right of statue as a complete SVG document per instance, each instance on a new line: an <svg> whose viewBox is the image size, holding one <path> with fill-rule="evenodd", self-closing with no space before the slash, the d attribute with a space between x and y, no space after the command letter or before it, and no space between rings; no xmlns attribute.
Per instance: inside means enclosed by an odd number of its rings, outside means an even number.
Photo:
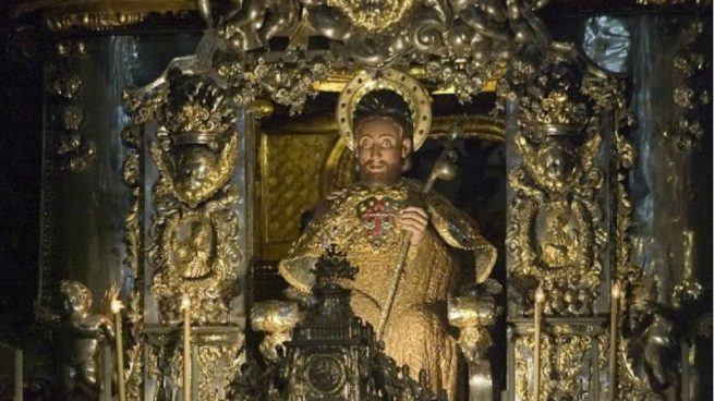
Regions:
<svg viewBox="0 0 714 401"><path fill-rule="evenodd" d="M581 316L592 313L602 275L598 252L606 243L596 200L602 138L586 85L581 89L584 81L561 75L566 69L582 74L582 65L569 58L554 51L525 89L538 95L522 99L521 130L513 139L522 165L509 173L516 197L507 244L517 291L530 297L541 282L546 314Z"/></svg>

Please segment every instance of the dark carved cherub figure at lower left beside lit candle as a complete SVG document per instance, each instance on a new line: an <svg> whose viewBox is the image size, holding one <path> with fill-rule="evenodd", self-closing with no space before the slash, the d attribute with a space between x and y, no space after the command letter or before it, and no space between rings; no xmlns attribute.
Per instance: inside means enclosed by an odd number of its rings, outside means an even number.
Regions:
<svg viewBox="0 0 714 401"><path fill-rule="evenodd" d="M105 339L114 338L114 328L109 318L92 313L93 295L85 284L63 280L60 293L59 357L66 399L96 399L99 390L97 349Z"/></svg>

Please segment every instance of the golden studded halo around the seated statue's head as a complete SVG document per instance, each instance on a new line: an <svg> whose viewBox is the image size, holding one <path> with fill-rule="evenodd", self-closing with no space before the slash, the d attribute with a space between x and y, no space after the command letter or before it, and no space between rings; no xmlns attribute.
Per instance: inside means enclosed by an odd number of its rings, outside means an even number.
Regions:
<svg viewBox="0 0 714 401"><path fill-rule="evenodd" d="M364 95L379 89L389 89L401 96L412 113L414 150L426 141L432 126L432 98L419 81L397 70L378 72L360 71L350 81L337 100L337 124L347 146L354 150L354 110Z"/></svg>

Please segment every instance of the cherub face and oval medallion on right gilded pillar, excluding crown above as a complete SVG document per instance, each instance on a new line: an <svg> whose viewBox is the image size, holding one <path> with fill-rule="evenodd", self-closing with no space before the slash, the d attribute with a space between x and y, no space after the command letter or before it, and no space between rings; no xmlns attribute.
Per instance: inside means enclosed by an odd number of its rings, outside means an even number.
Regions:
<svg viewBox="0 0 714 401"><path fill-rule="evenodd" d="M594 198L603 183L593 163L601 138L591 134L580 149L569 141L533 143L517 135L523 166L509 175L517 198L508 243L515 279L544 281L546 313L585 315L600 284L596 252L606 239Z"/></svg>

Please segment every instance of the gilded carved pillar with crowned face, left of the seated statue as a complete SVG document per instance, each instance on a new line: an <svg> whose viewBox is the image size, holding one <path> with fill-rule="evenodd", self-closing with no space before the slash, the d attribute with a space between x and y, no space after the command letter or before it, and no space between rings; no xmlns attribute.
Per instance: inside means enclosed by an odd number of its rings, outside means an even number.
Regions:
<svg viewBox="0 0 714 401"><path fill-rule="evenodd" d="M126 93L130 124L122 132L128 150L123 165L125 183L132 189L126 216L126 265L134 280L130 292L130 343L125 368L128 397L157 399L180 391L182 357L166 327L144 326L144 151L145 126L157 122L150 155L158 170L153 189L155 217L148 239L148 262L155 267L149 293L158 300L159 321L181 318L179 304L191 296L192 325L223 326L192 329L197 341L198 393L202 399L223 397L223 389L242 361L242 337L237 311L240 262L239 194L231 182L238 157L238 132L233 105L205 76L176 70L148 89ZM168 330L168 331L167 331ZM150 344L147 345L146 338ZM147 382L147 377L160 378ZM149 391L149 392L146 392ZM221 396L222 394L222 396Z"/></svg>

